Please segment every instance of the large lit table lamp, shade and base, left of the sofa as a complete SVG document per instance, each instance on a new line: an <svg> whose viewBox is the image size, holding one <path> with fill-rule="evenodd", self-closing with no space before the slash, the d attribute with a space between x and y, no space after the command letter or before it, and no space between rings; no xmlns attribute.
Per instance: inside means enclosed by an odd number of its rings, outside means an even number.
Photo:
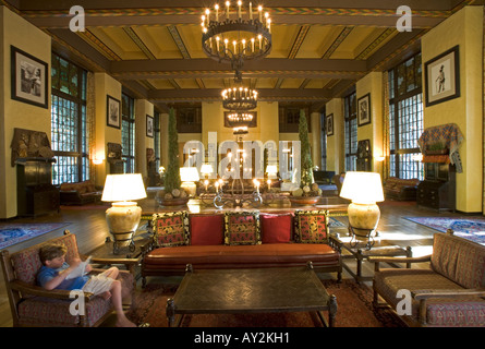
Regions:
<svg viewBox="0 0 485 349"><path fill-rule="evenodd" d="M114 238L113 253L118 254L120 244L129 242L130 251L135 250L133 234L142 218L142 207L134 200L146 197L141 173L108 174L101 201L112 202L106 210L106 221Z"/></svg>

